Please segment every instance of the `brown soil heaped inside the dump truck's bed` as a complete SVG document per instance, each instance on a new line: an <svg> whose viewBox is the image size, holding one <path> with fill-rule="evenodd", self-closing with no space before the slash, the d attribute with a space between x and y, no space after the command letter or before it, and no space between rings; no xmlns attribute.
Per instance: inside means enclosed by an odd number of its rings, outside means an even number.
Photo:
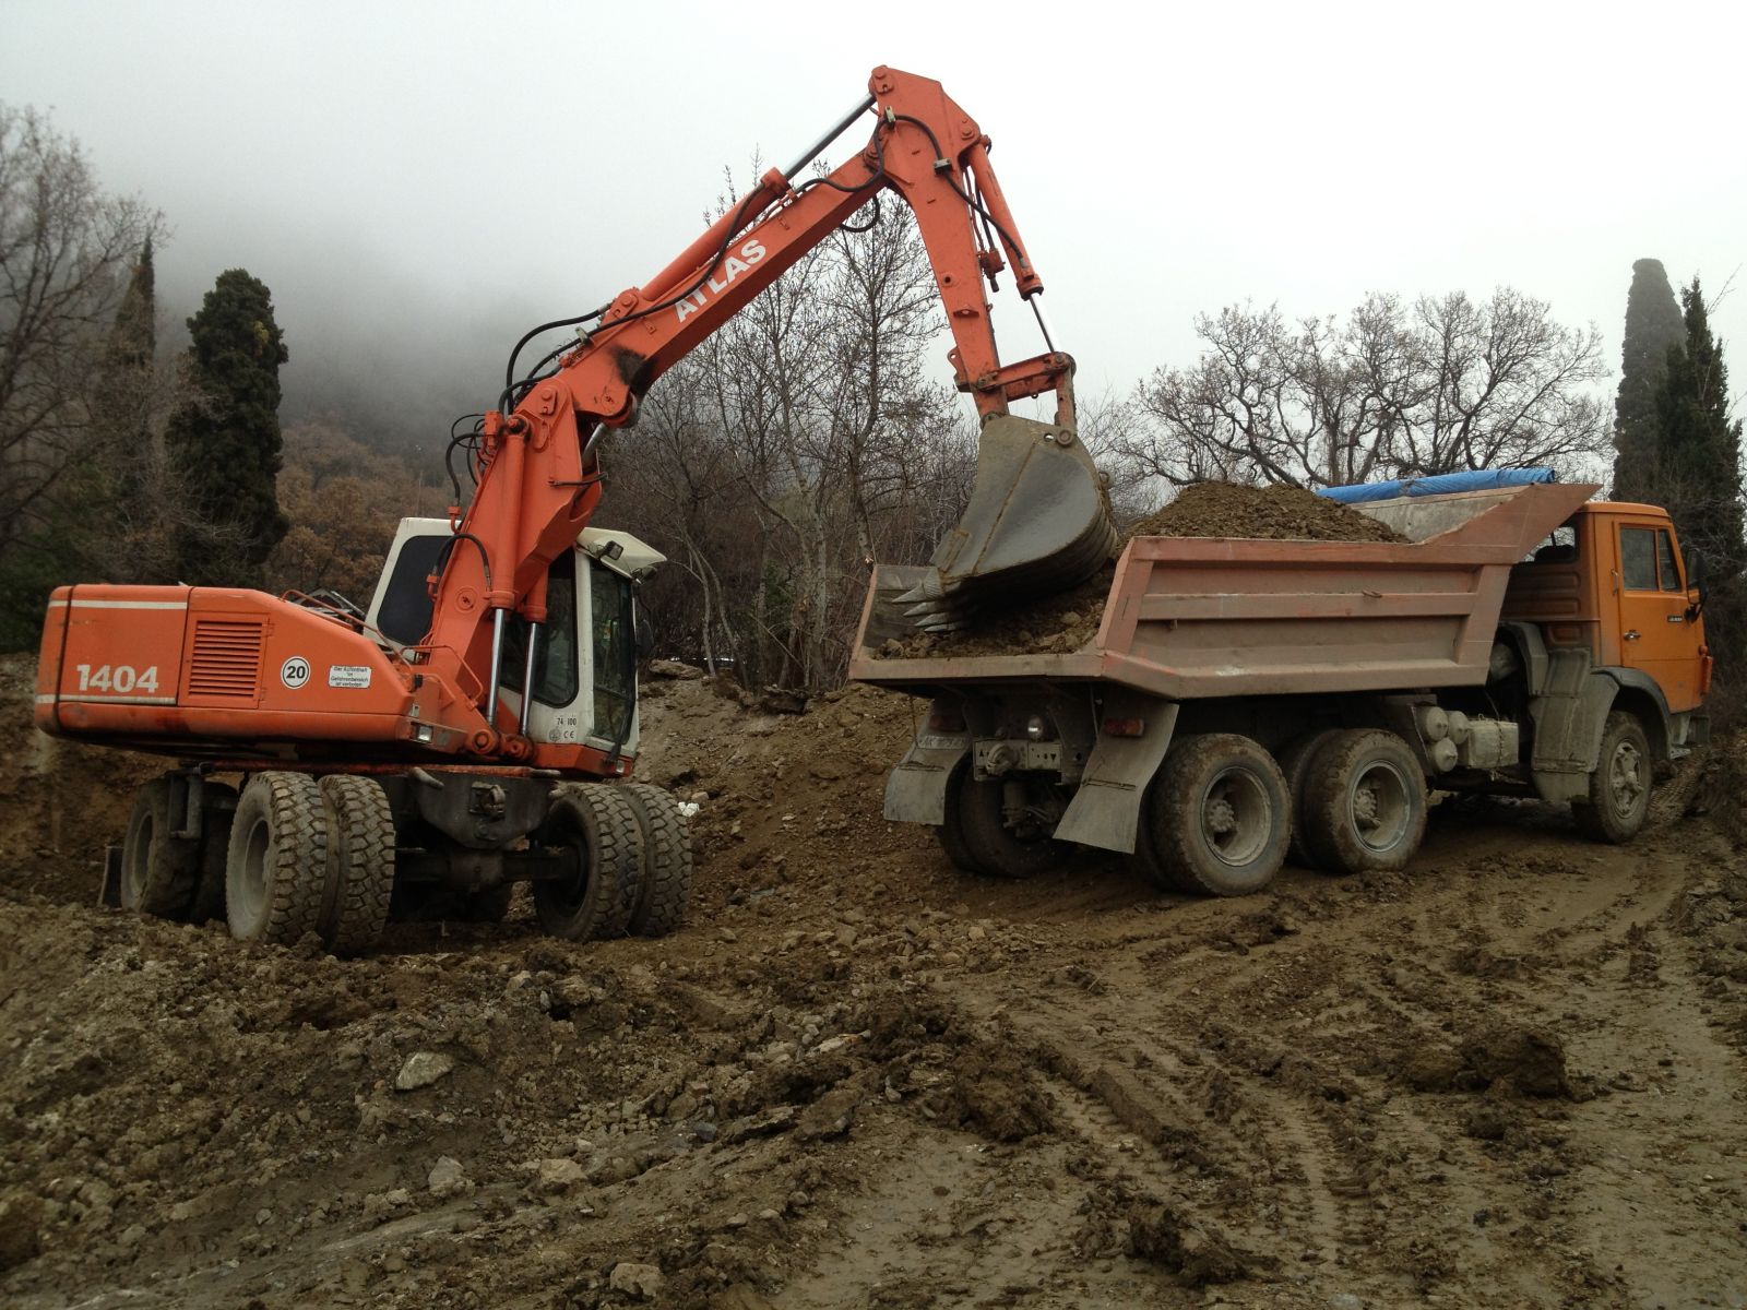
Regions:
<svg viewBox="0 0 1747 1310"><path fill-rule="evenodd" d="M1403 541L1392 527L1300 487L1197 482L1123 533L1136 536L1235 536L1268 541ZM917 632L886 641L875 658L1052 655L1083 650L1097 636L1116 580L1115 557L1074 590L1010 610L985 611L959 632Z"/></svg>

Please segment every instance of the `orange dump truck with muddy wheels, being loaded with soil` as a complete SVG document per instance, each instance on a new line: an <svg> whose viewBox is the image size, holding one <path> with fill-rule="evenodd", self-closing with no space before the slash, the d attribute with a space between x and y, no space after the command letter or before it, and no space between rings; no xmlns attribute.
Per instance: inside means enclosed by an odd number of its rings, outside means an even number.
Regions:
<svg viewBox="0 0 1747 1310"><path fill-rule="evenodd" d="M1429 789L1571 802L1628 840L1709 734L1702 561L1595 486L1424 491L1352 505L1403 543L1134 538L1073 653L886 657L921 569L879 566L849 672L931 702L886 817L968 872L1078 844L1218 894L1289 852L1401 868Z"/></svg>

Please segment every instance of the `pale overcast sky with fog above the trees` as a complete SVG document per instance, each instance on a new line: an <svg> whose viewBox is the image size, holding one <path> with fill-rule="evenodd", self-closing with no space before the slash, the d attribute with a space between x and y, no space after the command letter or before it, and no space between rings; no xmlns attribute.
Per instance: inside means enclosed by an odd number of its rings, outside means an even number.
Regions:
<svg viewBox="0 0 1747 1310"><path fill-rule="evenodd" d="M1618 370L1635 259L1712 290L1747 264L1744 12L0 0L0 98L166 213L182 313L248 267L292 369L374 341L397 391L645 281L723 168L790 162L877 63L994 138L1081 388L1190 362L1230 302L1499 285L1593 321ZM1747 271L1714 325L1747 388Z"/></svg>

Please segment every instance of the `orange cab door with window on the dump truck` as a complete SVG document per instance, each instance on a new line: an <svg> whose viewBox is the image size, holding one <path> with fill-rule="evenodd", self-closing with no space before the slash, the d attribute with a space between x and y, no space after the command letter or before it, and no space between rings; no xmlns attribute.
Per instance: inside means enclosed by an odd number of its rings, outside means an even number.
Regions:
<svg viewBox="0 0 1747 1310"><path fill-rule="evenodd" d="M1618 524L1619 665L1647 672L1670 711L1700 702L1698 643L1688 622L1686 578L1667 522Z"/></svg>

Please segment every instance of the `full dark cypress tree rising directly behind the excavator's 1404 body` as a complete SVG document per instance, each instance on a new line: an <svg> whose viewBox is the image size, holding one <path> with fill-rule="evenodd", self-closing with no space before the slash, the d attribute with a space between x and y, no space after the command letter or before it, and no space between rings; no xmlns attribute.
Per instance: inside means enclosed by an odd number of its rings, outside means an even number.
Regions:
<svg viewBox="0 0 1747 1310"><path fill-rule="evenodd" d="M273 295L243 269L218 274L189 320L196 398L169 419L164 447L190 526L178 533L178 571L194 585L250 587L288 527L280 514L280 365L290 355Z"/></svg>

